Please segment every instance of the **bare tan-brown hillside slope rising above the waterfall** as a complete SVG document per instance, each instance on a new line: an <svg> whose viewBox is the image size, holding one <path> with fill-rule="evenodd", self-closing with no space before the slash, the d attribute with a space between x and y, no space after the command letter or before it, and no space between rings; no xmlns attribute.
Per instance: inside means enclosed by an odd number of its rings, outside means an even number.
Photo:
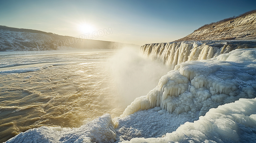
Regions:
<svg viewBox="0 0 256 143"><path fill-rule="evenodd" d="M227 21L225 21L227 20ZM256 10L241 14L234 18L205 25L188 36L176 40L202 41L202 40L255 40L256 39Z"/></svg>

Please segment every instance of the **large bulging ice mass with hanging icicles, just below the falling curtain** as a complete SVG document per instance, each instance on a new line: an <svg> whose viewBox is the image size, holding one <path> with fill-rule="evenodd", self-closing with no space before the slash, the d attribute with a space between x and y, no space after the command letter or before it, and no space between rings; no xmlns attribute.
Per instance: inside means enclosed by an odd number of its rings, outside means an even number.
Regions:
<svg viewBox="0 0 256 143"><path fill-rule="evenodd" d="M239 98L256 97L256 49L236 49L211 60L187 61L163 76L147 96L136 98L121 117L160 106L170 113L197 112Z"/></svg>

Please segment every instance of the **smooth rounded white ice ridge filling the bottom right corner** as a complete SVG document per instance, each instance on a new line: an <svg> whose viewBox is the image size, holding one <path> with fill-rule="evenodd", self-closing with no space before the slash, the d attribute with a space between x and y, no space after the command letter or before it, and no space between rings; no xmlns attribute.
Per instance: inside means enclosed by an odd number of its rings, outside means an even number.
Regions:
<svg viewBox="0 0 256 143"><path fill-rule="evenodd" d="M256 99L241 98L210 109L199 120L186 122L175 132L158 138L132 138L126 142L256 142Z"/></svg>

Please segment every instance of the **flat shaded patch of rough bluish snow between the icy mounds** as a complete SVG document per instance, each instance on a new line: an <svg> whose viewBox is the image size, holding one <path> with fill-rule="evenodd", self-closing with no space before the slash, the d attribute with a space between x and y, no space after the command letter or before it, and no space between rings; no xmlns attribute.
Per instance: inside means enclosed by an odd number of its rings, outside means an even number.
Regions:
<svg viewBox="0 0 256 143"><path fill-rule="evenodd" d="M171 114L160 107L138 111L134 114L119 118L116 132L117 141L130 140L135 137L162 137L166 133L172 133L185 122L193 122L197 118L191 118L189 114ZM114 119L115 120L115 119Z"/></svg>

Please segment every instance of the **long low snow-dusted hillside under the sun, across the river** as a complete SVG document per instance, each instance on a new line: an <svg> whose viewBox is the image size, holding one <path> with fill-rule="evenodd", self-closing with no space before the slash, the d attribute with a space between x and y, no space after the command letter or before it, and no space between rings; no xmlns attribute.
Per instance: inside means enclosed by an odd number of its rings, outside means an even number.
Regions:
<svg viewBox="0 0 256 143"><path fill-rule="evenodd" d="M0 51L38 51L60 49L116 49L139 47L119 42L61 36L32 29L0 26Z"/></svg>

